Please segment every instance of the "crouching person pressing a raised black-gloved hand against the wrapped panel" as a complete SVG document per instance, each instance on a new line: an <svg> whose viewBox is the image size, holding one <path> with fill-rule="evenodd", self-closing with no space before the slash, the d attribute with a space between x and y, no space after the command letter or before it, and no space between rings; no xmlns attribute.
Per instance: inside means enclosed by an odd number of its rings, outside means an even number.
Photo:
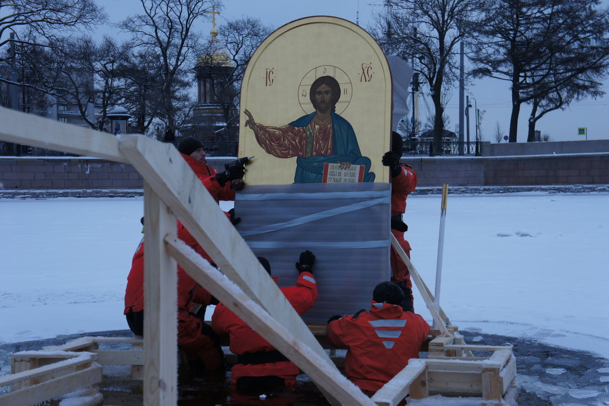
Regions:
<svg viewBox="0 0 609 406"><path fill-rule="evenodd" d="M270 272L266 258L258 257L261 265ZM312 274L315 255L311 251L300 254L298 281L293 287L280 287L298 315L303 315L317 300L317 282ZM277 282L277 277L273 280ZM222 336L228 335L230 351L237 354L237 363L232 368L231 384L236 385L239 393L265 393L267 391L290 388L296 383L300 372L298 366L289 361L268 341L254 332L242 319L224 304L216 306L211 318L214 331Z"/></svg>

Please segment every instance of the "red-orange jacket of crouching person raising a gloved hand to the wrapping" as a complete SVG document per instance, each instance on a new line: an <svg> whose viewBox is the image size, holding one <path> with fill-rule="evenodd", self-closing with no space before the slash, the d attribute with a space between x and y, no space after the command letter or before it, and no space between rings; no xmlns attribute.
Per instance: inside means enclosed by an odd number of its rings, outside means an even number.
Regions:
<svg viewBox="0 0 609 406"><path fill-rule="evenodd" d="M277 277L273 277L276 282ZM313 307L317 300L317 282L310 272L301 272L298 276L296 286L281 287L281 292L287 301L296 310L298 315L303 315L309 308ZM216 306L211 317L211 326L218 335L228 335L230 340L230 351L233 354L245 355L276 351L269 341L264 340L250 326L235 315L224 304ZM264 356L264 354L262 354ZM298 367L292 361L276 361L268 363L244 364L238 363L233 366L233 383L242 376L278 376L286 380L286 385L294 385L298 375Z"/></svg>

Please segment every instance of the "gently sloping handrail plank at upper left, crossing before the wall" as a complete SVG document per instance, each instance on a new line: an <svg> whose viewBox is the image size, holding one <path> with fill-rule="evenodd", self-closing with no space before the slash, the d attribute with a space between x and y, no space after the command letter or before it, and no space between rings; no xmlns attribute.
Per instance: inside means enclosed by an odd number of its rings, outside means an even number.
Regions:
<svg viewBox="0 0 609 406"><path fill-rule="evenodd" d="M127 162L119 151L118 137L105 132L4 107L0 107L0 123L2 141Z"/></svg>

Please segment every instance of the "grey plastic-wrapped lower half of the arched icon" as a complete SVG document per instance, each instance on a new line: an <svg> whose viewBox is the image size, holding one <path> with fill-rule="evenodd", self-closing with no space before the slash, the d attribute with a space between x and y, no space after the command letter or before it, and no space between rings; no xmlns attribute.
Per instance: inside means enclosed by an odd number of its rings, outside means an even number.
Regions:
<svg viewBox="0 0 609 406"><path fill-rule="evenodd" d="M315 254L319 297L309 323L368 309L375 285L389 280L389 183L248 185L236 196L236 228L266 257L278 285L293 286L300 252Z"/></svg>

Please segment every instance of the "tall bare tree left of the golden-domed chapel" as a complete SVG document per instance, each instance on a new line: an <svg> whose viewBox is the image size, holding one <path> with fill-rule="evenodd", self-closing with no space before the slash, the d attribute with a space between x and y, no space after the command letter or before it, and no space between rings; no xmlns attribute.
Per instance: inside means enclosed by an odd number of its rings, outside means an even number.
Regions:
<svg viewBox="0 0 609 406"><path fill-rule="evenodd" d="M160 110L163 141L175 141L180 107L188 104L186 88L189 68L197 57L200 34L193 30L195 21L209 18L215 0L140 0L143 13L127 18L119 26L133 34L139 51L158 62ZM191 65L192 63L192 65ZM186 101L186 103L185 103Z"/></svg>

